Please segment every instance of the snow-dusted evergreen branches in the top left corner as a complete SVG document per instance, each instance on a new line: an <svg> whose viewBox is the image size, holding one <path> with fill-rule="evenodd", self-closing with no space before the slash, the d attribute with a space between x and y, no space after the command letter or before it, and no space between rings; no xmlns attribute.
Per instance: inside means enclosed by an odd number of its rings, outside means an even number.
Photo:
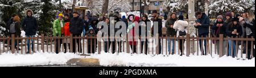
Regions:
<svg viewBox="0 0 256 78"><path fill-rule="evenodd" d="M7 6L0 6L0 34L1 36L7 37L9 29L6 26L7 21L10 20L12 14L17 14L22 21L26 17L26 10L31 9L34 12L36 18L39 16L38 11L40 10L40 1L38 0L1 0L0 4Z"/></svg>

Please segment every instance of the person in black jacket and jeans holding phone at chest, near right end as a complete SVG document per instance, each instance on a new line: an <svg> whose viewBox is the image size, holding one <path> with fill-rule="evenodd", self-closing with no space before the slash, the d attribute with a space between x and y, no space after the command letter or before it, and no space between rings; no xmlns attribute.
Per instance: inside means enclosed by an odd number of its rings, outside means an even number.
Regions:
<svg viewBox="0 0 256 78"><path fill-rule="evenodd" d="M242 34L242 27L239 23L239 19L238 18L233 18L232 19L232 23L230 25L228 25L228 27L226 28L226 33L228 34L229 37L229 56L232 56L233 58L236 57L236 41L232 41L230 40L230 38L236 38L241 36ZM232 50L232 44L233 44L233 51ZM233 53L233 55L232 55Z"/></svg>

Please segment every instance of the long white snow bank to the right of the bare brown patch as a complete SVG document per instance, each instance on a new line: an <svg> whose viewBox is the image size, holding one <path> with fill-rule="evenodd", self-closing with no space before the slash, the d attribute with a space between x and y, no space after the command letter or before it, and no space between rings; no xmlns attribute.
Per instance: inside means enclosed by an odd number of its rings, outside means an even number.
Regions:
<svg viewBox="0 0 256 78"><path fill-rule="evenodd" d="M149 67L255 67L255 58L252 60L242 60L232 57L218 56L196 56L180 57L179 55L131 55L126 53L109 54L104 53L92 55L86 58L96 58L100 60L102 66L149 66Z"/></svg>

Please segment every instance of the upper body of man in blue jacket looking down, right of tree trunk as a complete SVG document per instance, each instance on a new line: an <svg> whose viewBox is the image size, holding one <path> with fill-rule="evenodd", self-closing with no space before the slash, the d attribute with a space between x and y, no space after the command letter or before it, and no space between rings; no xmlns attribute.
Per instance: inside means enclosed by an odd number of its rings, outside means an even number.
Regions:
<svg viewBox="0 0 256 78"><path fill-rule="evenodd" d="M195 27L198 29L199 35L209 33L210 19L205 13L203 13L202 18L197 19L196 22L201 24L201 26Z"/></svg>

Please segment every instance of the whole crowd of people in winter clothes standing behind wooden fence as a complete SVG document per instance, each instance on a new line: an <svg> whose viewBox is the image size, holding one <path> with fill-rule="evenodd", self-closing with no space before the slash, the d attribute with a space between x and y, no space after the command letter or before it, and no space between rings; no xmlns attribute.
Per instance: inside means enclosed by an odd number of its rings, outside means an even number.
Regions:
<svg viewBox="0 0 256 78"><path fill-rule="evenodd" d="M32 10L27 10L26 11L27 17L23 19L23 21L20 23L20 18L18 15L13 15L12 18L10 19L9 23L7 23L7 25L9 25L10 29L12 27L12 25L15 26L15 33L11 33L10 34L15 34L15 36L20 36L20 24L22 25L22 29L24 30L24 32L26 32L26 37L35 37L36 32L38 31L38 24L36 21L36 18L34 18L33 12ZM210 27L210 18L209 16L207 16L207 14L202 13L202 12L196 12L196 24L195 24L195 28L198 29L198 37L208 37L209 34L209 27ZM72 16L72 17L71 17ZM58 14L57 19L53 22L53 27L52 27L52 32L53 32L53 36L70 36L70 34L72 33L73 37L80 37L80 36L86 36L86 37L96 37L98 32L101 31L101 29L103 29L104 27L100 27L97 28L97 24L100 21L105 21L106 24L108 24L108 37L113 37L110 36L112 34L112 29L110 28L114 28L113 32L117 32L119 29L121 29L121 27L111 27L112 25L110 25L110 22L112 22L112 20L110 20L110 17L114 18L114 24L117 24L118 21L123 21L126 24L126 28L127 28L127 34L129 34L130 37L135 37L135 36L152 36L154 35L153 30L151 28L151 30L146 30L146 35L142 34L141 32L145 32L142 31L142 27L148 27L148 23L147 21L152 21L152 22L157 22L158 23L158 34L161 37L162 34L162 27L163 27L163 20L166 20L166 23L164 25L164 27L167 28L167 37L173 37L173 36L185 36L187 34L186 29L188 27L188 21L184 20L184 16L182 14L179 14L179 16L176 13L171 13L170 18L166 17L167 15L165 15L164 19L163 16L159 16L158 12L152 11L152 18L148 18L148 15L143 14L142 17L140 16L136 16L134 14L130 14L126 16L121 16L121 14L119 14L119 12L111 12L109 14L109 16L102 16L101 18L97 15L92 15L89 11L88 14L86 14L85 16L81 15L79 12L73 12L72 15L69 14ZM224 37L228 37L228 45L223 44L223 55L225 55L226 53L226 48L228 48L228 55L235 57L236 56L236 45L241 45L241 44L245 44L245 43L241 43L240 44L236 44L236 41L232 41L230 40L230 38L232 37L253 37L255 38L255 27L254 27L254 20L255 20L255 16L254 13L249 11L246 11L244 13L242 13L241 15L238 13L234 13L234 12L227 12L225 15L218 15L216 22L214 23L214 25L212 27L210 27L213 31L214 31L214 37L219 37L220 34L224 34ZM143 22L143 25L139 25L138 23ZM115 25L114 25L115 26ZM135 31L137 31L137 29L139 29L139 33L135 33ZM147 31L151 31L151 34L148 34ZM121 34L115 34L115 36L121 36ZM138 41L134 40L135 38L133 38L132 41L129 41L129 45L130 48L133 50L133 53L137 53L137 45L138 45ZM27 48L28 50L30 50L30 46L31 46L31 50L34 49L32 44L32 40L27 40L27 43L31 41L31 45L27 44ZM66 49L66 46L70 46L70 41L69 39L56 39L56 44L64 44L64 53L67 52L68 49ZM95 50L94 48L97 46L97 41L94 43L94 41L96 40L92 40L93 43L90 43L91 40L88 40L89 42L89 53L94 53ZM174 54L174 39L168 39L168 52L169 54ZM182 48L184 48L184 42L185 40L181 40L179 42L180 44L180 51L181 54L183 55L184 50ZM58 43L60 42L60 43ZM75 53L76 49L77 51L79 51L79 53L82 52L81 49L81 45L79 45L79 39L73 39L72 40L72 46L73 46L73 50L72 52ZM115 42L117 42L117 46L119 47L117 49L117 51L115 51ZM203 55L206 55L206 50L207 49L202 49L203 48L203 43L204 42L204 47L207 46L207 42L206 40L199 40L199 44L200 44L200 50L203 52ZM226 41L224 41L225 43ZM110 49L110 44L112 45L112 53L115 52L121 52L122 50L122 45L121 44L122 41L121 40L114 40L114 39L106 39L104 40L104 50L107 53L108 50ZM162 45L161 45L161 41L159 40L159 53L161 54L161 50L162 50ZM217 54L220 54L219 52L219 46L220 46L220 41L213 41L214 44L217 45ZM232 43L233 43L233 50L231 50L232 48ZM238 42L239 43L239 42ZM253 42L254 43L254 42ZM15 49L19 49L19 47L16 47L17 42L15 42ZM92 44L92 45L91 45ZM170 46L172 45L172 50L170 50ZM75 46L77 45L77 46ZM147 54L147 47L148 47L148 40L144 40L141 41L141 46L144 46L145 48L144 50L146 50ZM253 44L254 45L254 44ZM90 50L92 46L92 50ZM226 47L227 46L227 47ZM248 42L248 51L253 50L253 53L255 49L251 49L251 42ZM56 45L56 53L59 53L59 49L60 46ZM166 46L167 47L167 46ZM144 47L141 47L141 50L143 50ZM245 49L245 48L243 48ZM35 51L34 51L35 52ZM245 50L243 50L243 52L245 52ZM27 52L28 53L28 52ZM143 51L141 51L141 53L143 53ZM233 55L231 55L233 53ZM250 52L248 53L248 55L250 56ZM253 54L254 57L254 54ZM249 59L249 58L248 58Z"/></svg>

